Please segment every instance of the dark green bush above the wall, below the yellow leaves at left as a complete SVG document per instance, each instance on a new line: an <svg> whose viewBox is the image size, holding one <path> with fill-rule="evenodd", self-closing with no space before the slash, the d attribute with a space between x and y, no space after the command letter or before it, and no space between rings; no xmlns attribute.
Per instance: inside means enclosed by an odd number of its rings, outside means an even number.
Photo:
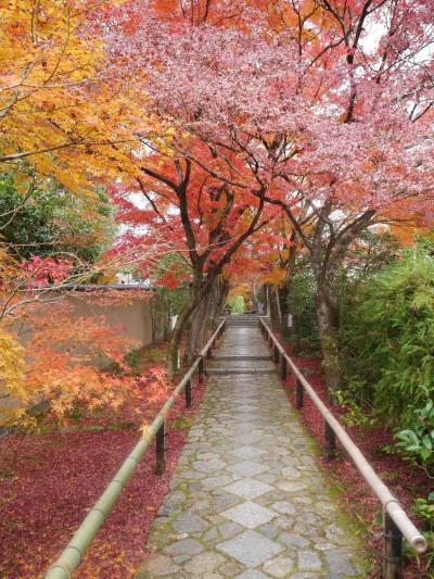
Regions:
<svg viewBox="0 0 434 579"><path fill-rule="evenodd" d="M95 190L89 201L54 179L37 180L27 198L18 175L0 174L0 215L5 217L1 241L15 257L73 253L88 263L98 261L116 232L114 207L105 191Z"/></svg>

